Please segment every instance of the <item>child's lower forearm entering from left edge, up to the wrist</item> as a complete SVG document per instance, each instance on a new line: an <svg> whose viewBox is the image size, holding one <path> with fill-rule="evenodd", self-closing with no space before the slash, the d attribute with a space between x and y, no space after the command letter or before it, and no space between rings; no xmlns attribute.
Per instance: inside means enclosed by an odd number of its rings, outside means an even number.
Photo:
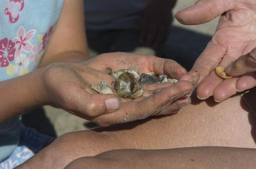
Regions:
<svg viewBox="0 0 256 169"><path fill-rule="evenodd" d="M0 82L0 123L44 104L41 98L43 71L42 69L36 70Z"/></svg>

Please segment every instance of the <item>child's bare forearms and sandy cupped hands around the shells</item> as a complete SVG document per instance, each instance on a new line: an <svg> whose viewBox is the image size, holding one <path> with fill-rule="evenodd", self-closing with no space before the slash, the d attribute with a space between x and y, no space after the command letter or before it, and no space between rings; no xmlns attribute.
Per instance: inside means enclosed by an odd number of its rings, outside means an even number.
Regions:
<svg viewBox="0 0 256 169"><path fill-rule="evenodd" d="M186 70L175 61L155 56L114 53L82 63L88 60L82 3L82 0L64 1L62 14L40 63L40 69L0 82L0 97L3 100L0 102L0 122L38 106L52 105L100 126L109 126L150 115L176 113L184 104L191 102L187 95L192 92L199 74L186 74ZM135 64L140 64L142 72L167 74L180 79L180 82L174 85L146 85L144 96L133 100L98 94L90 87L105 79L113 88L112 82L115 79L106 72L106 68L128 69ZM195 79L192 80L192 76L196 76ZM186 82L188 77L190 82ZM23 89L19 90L17 86L23 86ZM142 109L140 105L149 102L154 104ZM138 108L141 108L140 111ZM163 108L167 108L168 112L163 111ZM127 110L130 110L129 113Z"/></svg>

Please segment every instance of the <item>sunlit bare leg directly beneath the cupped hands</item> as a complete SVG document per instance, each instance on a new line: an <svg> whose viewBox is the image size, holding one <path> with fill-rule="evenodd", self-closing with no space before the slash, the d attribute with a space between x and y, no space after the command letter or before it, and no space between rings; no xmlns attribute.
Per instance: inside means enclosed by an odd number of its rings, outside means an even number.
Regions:
<svg viewBox="0 0 256 169"><path fill-rule="evenodd" d="M79 157L116 149L256 147L255 118L240 96L216 105L193 103L173 116L65 134L21 167L64 168Z"/></svg>

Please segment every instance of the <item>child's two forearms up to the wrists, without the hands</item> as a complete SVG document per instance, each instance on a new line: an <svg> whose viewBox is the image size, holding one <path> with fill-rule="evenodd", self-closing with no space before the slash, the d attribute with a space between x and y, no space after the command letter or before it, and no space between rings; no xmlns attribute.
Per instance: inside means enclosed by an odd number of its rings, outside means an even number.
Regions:
<svg viewBox="0 0 256 169"><path fill-rule="evenodd" d="M87 60L82 0L65 0L64 7L40 67L54 62ZM0 122L43 105L41 96L45 70L0 82Z"/></svg>

